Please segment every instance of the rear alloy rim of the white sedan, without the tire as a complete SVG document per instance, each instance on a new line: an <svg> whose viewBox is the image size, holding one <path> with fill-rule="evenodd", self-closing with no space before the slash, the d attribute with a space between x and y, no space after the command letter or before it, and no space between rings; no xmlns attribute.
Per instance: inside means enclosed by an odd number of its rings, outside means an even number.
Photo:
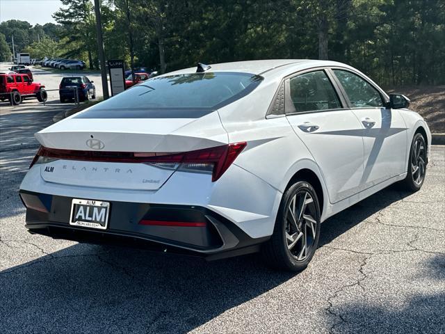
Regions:
<svg viewBox="0 0 445 334"><path fill-rule="evenodd" d="M312 253L318 224L314 199L308 191L296 193L286 210L286 244L298 261Z"/></svg>

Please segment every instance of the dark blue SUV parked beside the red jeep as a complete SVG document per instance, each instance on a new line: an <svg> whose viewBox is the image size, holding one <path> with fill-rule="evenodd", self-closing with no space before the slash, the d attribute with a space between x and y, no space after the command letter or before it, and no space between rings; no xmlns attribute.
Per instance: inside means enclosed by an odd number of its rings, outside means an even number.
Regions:
<svg viewBox="0 0 445 334"><path fill-rule="evenodd" d="M87 77L65 77L60 82L59 96L60 102L67 100L76 100L76 95L79 94L80 101L86 101L96 98L96 87L92 84L93 81Z"/></svg>

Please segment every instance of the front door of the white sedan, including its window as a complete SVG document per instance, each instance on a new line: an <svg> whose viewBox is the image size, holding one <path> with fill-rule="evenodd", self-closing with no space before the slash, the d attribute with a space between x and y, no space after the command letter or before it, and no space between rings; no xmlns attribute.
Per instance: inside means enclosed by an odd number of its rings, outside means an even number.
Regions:
<svg viewBox="0 0 445 334"><path fill-rule="evenodd" d="M333 68L332 72L362 127L362 188L405 173L407 127L401 113L387 109L384 93L359 73L341 68Z"/></svg>

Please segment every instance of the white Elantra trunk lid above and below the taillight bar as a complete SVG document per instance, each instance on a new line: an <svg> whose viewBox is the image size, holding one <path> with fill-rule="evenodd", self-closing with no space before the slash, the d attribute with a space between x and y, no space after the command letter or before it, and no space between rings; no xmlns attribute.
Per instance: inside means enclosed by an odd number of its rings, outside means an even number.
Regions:
<svg viewBox="0 0 445 334"><path fill-rule="evenodd" d="M134 190L161 188L177 166L131 161L129 156L149 157L227 144L227 132L216 111L194 119L70 118L35 136L45 148L64 152L60 159L49 159L40 166L45 181Z"/></svg>

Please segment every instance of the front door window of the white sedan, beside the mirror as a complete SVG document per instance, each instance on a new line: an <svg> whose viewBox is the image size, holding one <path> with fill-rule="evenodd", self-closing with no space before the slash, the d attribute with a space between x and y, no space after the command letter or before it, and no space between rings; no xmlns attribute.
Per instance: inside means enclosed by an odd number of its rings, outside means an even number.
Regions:
<svg viewBox="0 0 445 334"><path fill-rule="evenodd" d="M344 70L334 70L334 73L353 107L384 106L382 96L368 81L362 79L357 74Z"/></svg>

